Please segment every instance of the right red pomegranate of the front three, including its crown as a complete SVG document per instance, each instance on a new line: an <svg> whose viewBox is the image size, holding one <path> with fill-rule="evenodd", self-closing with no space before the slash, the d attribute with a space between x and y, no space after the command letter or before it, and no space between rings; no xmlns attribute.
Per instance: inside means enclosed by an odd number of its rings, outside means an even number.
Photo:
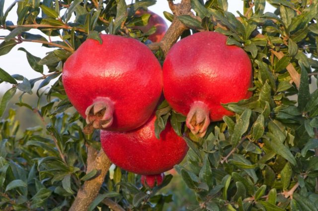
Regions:
<svg viewBox="0 0 318 211"><path fill-rule="evenodd" d="M217 32L199 32L177 42L163 63L163 94L186 125L203 137L210 121L233 113L221 104L249 98L252 67L247 53L226 45Z"/></svg>

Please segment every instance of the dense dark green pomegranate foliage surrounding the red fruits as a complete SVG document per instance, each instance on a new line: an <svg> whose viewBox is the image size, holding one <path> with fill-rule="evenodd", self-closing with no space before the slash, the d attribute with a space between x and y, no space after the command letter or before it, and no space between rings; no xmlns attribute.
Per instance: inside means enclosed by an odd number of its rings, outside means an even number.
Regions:
<svg viewBox="0 0 318 211"><path fill-rule="evenodd" d="M149 19L135 11L155 1L127 5L124 0L20 0L6 11L3 2L0 0L0 28L7 36L0 43L0 55L24 39L41 42L51 52L38 58L27 49L18 49L26 53L34 71L43 73L44 65L48 67L49 74L39 78L10 76L0 68L0 83L12 85L2 93L0 116L18 89L22 94L14 103L41 120L41 125L21 129L14 110L2 116L0 210L68 210L83 182L99 174L96 169L85 174L85 169L87 146L99 150L100 143L97 131L92 136L82 133L85 122L71 108L62 85L63 63L87 38L101 42L100 32L146 42L154 28L146 33L134 29ZM276 7L273 13L264 13L268 3ZM6 20L14 5L19 26ZM170 121L190 148L185 162L175 169L193 197L186 202L179 199L175 205L180 206L181 201L196 211L317 211L318 90L310 92L310 86L315 87L318 75L318 1L244 0L244 14L239 17L226 11L227 0L191 0L191 6L196 17L177 17L190 28L181 37L203 30L227 35L228 45L239 46L250 56L254 86L250 99L223 105L235 115L211 123L204 138L189 134L185 117L165 101L158 106L156 135ZM168 12L164 15L170 21L174 18ZM29 33L31 28L61 40L49 42ZM162 62L162 52L155 54ZM291 67L299 74L299 87L292 82ZM49 91L41 89L54 78L58 80ZM41 83L35 92L37 81ZM39 100L29 105L23 98L32 92ZM108 210L105 199L124 209L162 210L175 199L171 192L159 192L171 178L166 175L160 187L149 191L142 188L140 176L116 167L107 173L89 210ZM182 197L184 193L174 194Z"/></svg>

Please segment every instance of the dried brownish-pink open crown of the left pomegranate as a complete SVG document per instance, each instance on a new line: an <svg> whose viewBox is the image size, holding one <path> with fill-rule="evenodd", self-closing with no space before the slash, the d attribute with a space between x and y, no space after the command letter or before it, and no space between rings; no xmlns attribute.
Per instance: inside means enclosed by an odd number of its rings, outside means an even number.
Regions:
<svg viewBox="0 0 318 211"><path fill-rule="evenodd" d="M98 97L85 111L85 131L105 129L113 123L114 103L109 98Z"/></svg>

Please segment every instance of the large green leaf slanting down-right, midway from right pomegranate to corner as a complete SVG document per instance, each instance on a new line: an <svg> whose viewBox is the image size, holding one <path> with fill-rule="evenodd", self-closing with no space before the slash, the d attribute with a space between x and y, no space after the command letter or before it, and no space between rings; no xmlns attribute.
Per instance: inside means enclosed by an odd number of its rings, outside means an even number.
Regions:
<svg viewBox="0 0 318 211"><path fill-rule="evenodd" d="M266 136L268 136L270 140L263 139L263 142L269 146L272 151L274 151L277 155L287 159L293 165L296 165L296 159L294 158L291 151L282 142L280 142L276 136L269 132L266 133Z"/></svg>

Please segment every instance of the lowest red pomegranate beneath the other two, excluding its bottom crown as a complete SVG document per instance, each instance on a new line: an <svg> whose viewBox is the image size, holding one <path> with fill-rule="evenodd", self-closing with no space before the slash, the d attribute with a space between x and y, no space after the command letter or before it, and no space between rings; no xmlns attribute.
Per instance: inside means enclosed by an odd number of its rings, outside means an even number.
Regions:
<svg viewBox="0 0 318 211"><path fill-rule="evenodd" d="M157 139L155 120L153 115L142 127L124 133L101 130L105 154L115 165L136 174L159 174L173 168L184 158L188 146L169 122Z"/></svg>

